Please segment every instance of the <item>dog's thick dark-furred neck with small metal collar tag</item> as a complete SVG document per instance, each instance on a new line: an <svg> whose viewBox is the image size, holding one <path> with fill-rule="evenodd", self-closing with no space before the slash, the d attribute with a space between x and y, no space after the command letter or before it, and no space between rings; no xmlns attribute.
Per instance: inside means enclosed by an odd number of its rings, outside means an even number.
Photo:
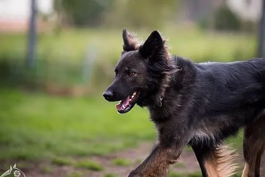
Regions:
<svg viewBox="0 0 265 177"><path fill-rule="evenodd" d="M152 100L148 101L147 107L154 121L164 121L174 111L180 109L194 82L196 71L192 62L182 57L175 57L175 63L178 71L165 75L158 91L151 98Z"/></svg>

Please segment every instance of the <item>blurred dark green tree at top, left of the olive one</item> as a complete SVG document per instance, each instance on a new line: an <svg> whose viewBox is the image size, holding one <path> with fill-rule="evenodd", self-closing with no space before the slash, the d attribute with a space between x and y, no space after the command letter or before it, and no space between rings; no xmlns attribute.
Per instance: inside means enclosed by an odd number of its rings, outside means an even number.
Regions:
<svg viewBox="0 0 265 177"><path fill-rule="evenodd" d="M76 26L101 24L101 16L113 0L54 0L54 9Z"/></svg>

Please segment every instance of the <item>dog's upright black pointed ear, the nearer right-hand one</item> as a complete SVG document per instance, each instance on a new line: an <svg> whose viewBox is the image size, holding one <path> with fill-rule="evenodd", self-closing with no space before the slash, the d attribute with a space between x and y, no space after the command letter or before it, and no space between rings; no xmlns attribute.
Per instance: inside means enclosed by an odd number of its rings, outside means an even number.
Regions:
<svg viewBox="0 0 265 177"><path fill-rule="evenodd" d="M144 44L139 48L139 52L143 58L154 56L162 50L164 42L157 30L153 31L146 39Z"/></svg>

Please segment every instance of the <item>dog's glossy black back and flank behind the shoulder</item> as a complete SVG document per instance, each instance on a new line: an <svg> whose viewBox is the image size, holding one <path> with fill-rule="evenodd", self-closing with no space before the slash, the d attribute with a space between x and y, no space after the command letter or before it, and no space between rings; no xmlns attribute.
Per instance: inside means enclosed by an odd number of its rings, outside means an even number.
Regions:
<svg viewBox="0 0 265 177"><path fill-rule="evenodd" d="M196 113L194 125L212 126L216 139L236 133L265 109L265 59L193 65L185 111Z"/></svg>

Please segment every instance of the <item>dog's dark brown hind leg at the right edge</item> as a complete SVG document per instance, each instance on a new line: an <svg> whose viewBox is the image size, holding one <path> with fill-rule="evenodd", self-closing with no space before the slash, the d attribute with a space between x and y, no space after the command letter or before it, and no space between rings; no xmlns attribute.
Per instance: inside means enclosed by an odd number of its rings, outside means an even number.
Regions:
<svg viewBox="0 0 265 177"><path fill-rule="evenodd" d="M265 149L265 115L244 130L243 154L245 167L242 177L260 177L261 157Z"/></svg>

